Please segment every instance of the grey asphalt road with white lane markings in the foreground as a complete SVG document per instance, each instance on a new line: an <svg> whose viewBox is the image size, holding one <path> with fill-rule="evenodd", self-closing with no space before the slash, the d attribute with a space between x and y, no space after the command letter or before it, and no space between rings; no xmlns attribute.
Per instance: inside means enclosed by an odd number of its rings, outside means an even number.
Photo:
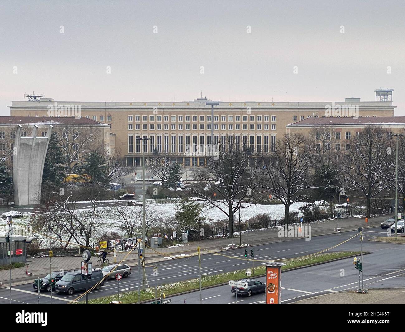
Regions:
<svg viewBox="0 0 405 332"><path fill-rule="evenodd" d="M376 233L375 233L376 232ZM369 276L377 276L381 275L382 273L392 272L394 270L400 270L401 268L405 267L403 250L405 247L398 245L398 244L387 244L382 242L371 242L366 241L367 238L372 237L373 235L382 236L382 233L386 231L381 230L379 228L371 228L368 231L364 231L364 251L373 251L373 254L367 255L364 258L364 278ZM293 258L293 257L301 257L304 255L308 255L311 253L317 253L325 248L330 248L333 245L336 245L348 238L352 237L356 234L355 231L352 232L344 232L344 233L336 233L326 236L315 236L312 237L310 241L305 241L305 239L296 239L290 241L283 241L283 242L276 242L272 244L263 244L260 246L255 246L255 258L258 260L273 260L273 259L281 259L281 258ZM358 238L354 238L345 244L333 249L333 251L358 251ZM246 259L244 257L244 248L232 249L229 251L222 251L220 252L222 255L216 254L206 254L202 256L201 259L201 269L204 275L210 274L218 274L223 272L229 272L234 270L241 270L246 268ZM249 250L250 253L250 250ZM229 257L226 257L226 256ZM310 293L315 293L315 291L324 291L325 289L329 289L330 287L336 287L339 285L344 285L349 283L346 282L348 278L342 278L339 276L334 275L336 273L336 269L338 266L340 268L345 269L345 275L350 276L350 283L356 281L356 272L357 270L354 269L354 265L352 264L353 259L346 259L342 261L337 261L333 263L323 264L320 266L315 266L312 268L305 268L300 270L295 270L291 272L285 272L282 278L282 285L283 287L287 287L289 289L298 289L301 291L306 291ZM368 268L368 262L370 261L370 268ZM256 262L256 266L261 262ZM153 288L155 285L155 280L152 274L154 265L146 266L146 274L147 274L147 281L149 286ZM183 281L187 279L197 278L198 277L198 257L191 256L191 257L184 257L181 259L173 259L164 262L159 262L158 266L158 285L172 283L176 281ZM248 267L252 268L252 261L248 262ZM337 270L339 272L340 268ZM312 272L307 272L312 271ZM367 271L367 272L366 272ZM366 274L367 273L367 274ZM302 277L302 276L305 277ZM290 277L291 276L291 277ZM142 278L142 275L141 275ZM291 278L291 279L289 279ZM401 276L402 278L402 276ZM400 279L401 279L400 278ZM392 278L391 278L392 279ZM343 282L343 280L345 280ZM319 281L319 283L318 283ZM313 284L312 284L313 283ZM299 287L298 287L299 286ZM402 285L403 286L403 285ZM9 289L6 288L7 285L3 285L3 288L0 288L0 303L10 303L10 294ZM314 288L315 287L315 288ZM318 288L316 288L318 287ZM138 289L138 272L137 267L132 268L132 274L128 276L126 279L122 279L119 283L119 291L135 291ZM223 294L221 291L218 292L218 289L227 289ZM315 290L315 291L313 291ZM112 294L117 294L118 291L118 282L115 280L106 281L105 285L101 287L98 291L92 291L89 293L89 299L92 298L100 298L103 296L108 296ZM228 298L230 295L229 287L216 287L212 289L203 290L203 298L207 298L205 301L210 303L211 296L215 292L215 297L212 298L213 303L228 303L230 301L226 299L225 294L229 292ZM300 291L290 291L290 290L283 290L282 293L283 299L295 298L298 294L303 295L306 293L301 293ZM53 294L52 303L68 303L77 298L80 293L75 293L72 296L63 296L58 293ZM193 295L194 294L194 295ZM223 296L221 298L221 296ZM308 296L311 294L308 294ZM192 303L190 301L193 300L193 296L197 297L199 300L199 294L197 293L190 293L186 295L188 299L188 303ZM258 298L258 295L255 295L254 298ZM32 284L25 284L12 287L11 291L11 299L12 303L38 303L38 294L33 291ZM249 299L241 299L244 301L248 301ZM85 300L81 298L80 300ZM184 296L173 297L173 303L183 303ZM218 302L220 300L220 302ZM256 301L262 301L263 299L257 299ZM294 299L295 300L295 299ZM50 303L50 293L43 292L40 293L39 298L40 303ZM252 300L252 302L254 302Z"/></svg>

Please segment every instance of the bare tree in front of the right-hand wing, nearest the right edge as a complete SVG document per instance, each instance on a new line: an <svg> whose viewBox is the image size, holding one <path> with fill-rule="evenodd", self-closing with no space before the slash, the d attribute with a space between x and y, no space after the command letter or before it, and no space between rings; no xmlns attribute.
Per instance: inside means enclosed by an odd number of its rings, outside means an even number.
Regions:
<svg viewBox="0 0 405 332"><path fill-rule="evenodd" d="M389 130L389 129L388 129ZM394 184L391 136L387 128L367 125L353 138L345 140L345 171L342 178L348 188L367 199L370 213L371 199Z"/></svg>

